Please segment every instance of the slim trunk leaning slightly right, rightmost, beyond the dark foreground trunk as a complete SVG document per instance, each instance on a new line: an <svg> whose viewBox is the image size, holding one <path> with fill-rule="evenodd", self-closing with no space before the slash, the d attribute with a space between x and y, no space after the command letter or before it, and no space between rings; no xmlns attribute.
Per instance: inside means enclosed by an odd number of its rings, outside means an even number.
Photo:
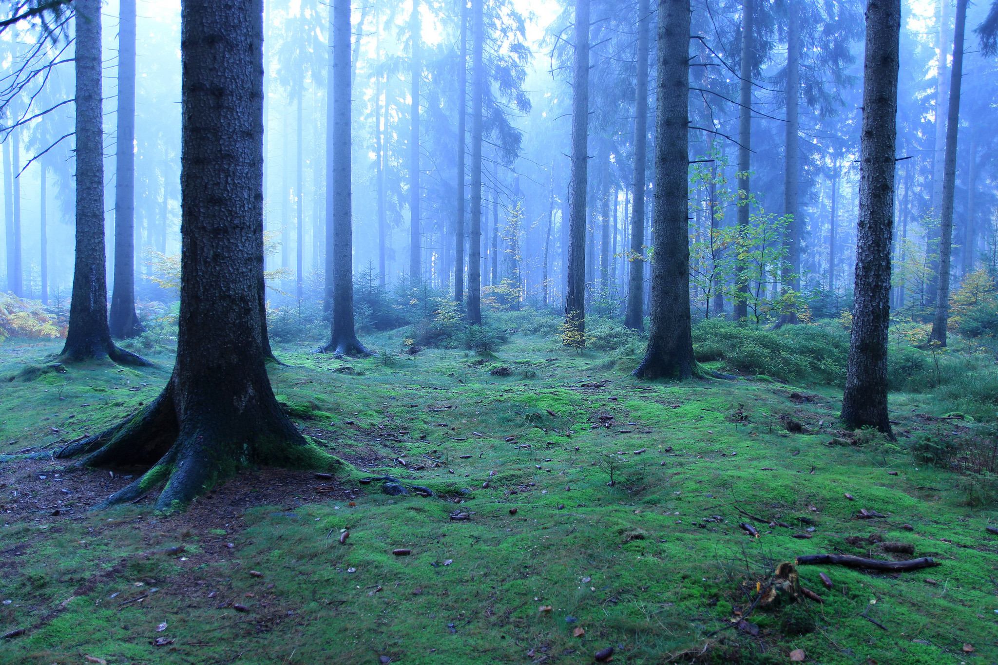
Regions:
<svg viewBox="0 0 998 665"><path fill-rule="evenodd" d="M929 190L929 206L932 208L932 218L939 226L930 224L925 232L926 253L929 255L929 278L925 284L925 304L936 302L939 274L939 233L942 225L943 186L946 180L946 120L944 109L947 109L950 97L949 84L949 3L950 0L939 0L939 49L936 56L936 99L935 99L935 147L932 151L932 188ZM953 54L956 57L956 54ZM961 54L962 57L962 54Z"/></svg>

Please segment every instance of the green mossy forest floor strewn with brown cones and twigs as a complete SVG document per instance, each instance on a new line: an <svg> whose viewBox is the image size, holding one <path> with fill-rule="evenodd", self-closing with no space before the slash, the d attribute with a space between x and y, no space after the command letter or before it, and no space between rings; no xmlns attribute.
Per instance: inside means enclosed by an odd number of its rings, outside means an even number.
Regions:
<svg viewBox="0 0 998 665"><path fill-rule="evenodd" d="M0 347L0 455L98 432L170 376L169 357L22 371L57 350ZM163 516L88 509L141 470L0 463L0 634L24 629L0 663L998 662L998 513L902 448L848 445L834 389L641 383L527 337L488 359L277 356L292 420L349 463L335 479L250 470ZM962 427L935 409L891 396L902 440ZM410 494L361 482L385 475ZM799 566L823 602L757 602L795 556L909 557L880 541L941 566Z"/></svg>

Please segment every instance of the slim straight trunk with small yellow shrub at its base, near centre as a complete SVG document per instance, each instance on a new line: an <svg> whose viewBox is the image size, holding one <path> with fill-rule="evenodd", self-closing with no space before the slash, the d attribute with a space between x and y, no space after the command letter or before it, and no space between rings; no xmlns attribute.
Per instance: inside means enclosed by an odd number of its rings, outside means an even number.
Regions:
<svg viewBox="0 0 998 665"><path fill-rule="evenodd" d="M584 344L586 334L586 189L589 162L589 0L575 0L572 74L572 174L569 180L569 250L565 331Z"/></svg>

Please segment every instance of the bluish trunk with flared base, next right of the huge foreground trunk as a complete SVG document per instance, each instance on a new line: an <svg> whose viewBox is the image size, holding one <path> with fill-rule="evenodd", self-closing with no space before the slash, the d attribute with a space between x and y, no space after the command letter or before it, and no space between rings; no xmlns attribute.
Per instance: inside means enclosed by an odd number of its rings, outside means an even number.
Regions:
<svg viewBox="0 0 998 665"><path fill-rule="evenodd" d="M351 97L350 0L334 0L332 8L332 155L326 168L332 175L332 326L321 351L344 356L368 355L353 325L353 225L350 184Z"/></svg>

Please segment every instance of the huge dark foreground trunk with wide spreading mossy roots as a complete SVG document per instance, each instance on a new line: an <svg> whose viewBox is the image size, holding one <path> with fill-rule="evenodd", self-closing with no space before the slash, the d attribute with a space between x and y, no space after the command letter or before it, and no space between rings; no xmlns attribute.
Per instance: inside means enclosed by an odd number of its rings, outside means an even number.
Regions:
<svg viewBox="0 0 998 665"><path fill-rule="evenodd" d="M95 16L89 10L98 2L92 3L78 0L77 16L81 6L88 10L83 20ZM177 364L164 391L135 417L56 454L83 455L80 464L87 466L152 465L106 504L165 484L156 507L169 512L250 465L335 464L307 445L280 411L260 344L261 17L260 0L229 7L188 0L181 10L184 219Z"/></svg>

